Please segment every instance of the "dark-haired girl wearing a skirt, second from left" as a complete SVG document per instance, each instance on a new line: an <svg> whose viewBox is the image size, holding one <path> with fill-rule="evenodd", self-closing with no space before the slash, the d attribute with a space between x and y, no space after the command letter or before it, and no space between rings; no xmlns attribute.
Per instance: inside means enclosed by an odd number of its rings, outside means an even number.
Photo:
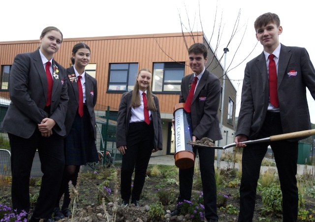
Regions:
<svg viewBox="0 0 315 222"><path fill-rule="evenodd" d="M66 69L69 103L64 123L67 135L64 139L65 168L54 209L55 221L71 215L68 208L70 204L68 183L71 180L73 186L76 185L80 165L98 160L94 112L97 83L95 78L85 72L90 58L90 47L85 43L78 43L72 49L73 66ZM59 202L63 193L63 205L60 209Z"/></svg>

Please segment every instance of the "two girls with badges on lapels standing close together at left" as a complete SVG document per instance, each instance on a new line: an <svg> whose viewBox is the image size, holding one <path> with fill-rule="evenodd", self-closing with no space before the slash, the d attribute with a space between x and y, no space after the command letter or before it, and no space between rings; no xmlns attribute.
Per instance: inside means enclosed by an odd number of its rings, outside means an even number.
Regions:
<svg viewBox="0 0 315 222"><path fill-rule="evenodd" d="M91 50L85 43L74 45L73 66L64 69L53 58L62 41L59 29L45 28L38 49L18 54L10 71L11 103L1 127L10 140L12 205L17 212L30 210L29 180L36 149L43 172L30 222L69 217L69 181L75 186L80 165L98 160L97 84L85 72Z"/></svg>

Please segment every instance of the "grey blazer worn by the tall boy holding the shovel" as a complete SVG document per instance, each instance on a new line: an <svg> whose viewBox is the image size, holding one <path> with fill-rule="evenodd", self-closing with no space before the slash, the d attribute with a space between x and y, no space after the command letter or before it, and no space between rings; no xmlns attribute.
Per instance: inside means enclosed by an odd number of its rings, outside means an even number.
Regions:
<svg viewBox="0 0 315 222"><path fill-rule="evenodd" d="M281 45L278 97L284 133L311 128L306 87L315 98L315 69L305 48ZM247 63L236 135L255 139L265 121L269 82L264 53ZM302 138L292 139L291 141Z"/></svg>

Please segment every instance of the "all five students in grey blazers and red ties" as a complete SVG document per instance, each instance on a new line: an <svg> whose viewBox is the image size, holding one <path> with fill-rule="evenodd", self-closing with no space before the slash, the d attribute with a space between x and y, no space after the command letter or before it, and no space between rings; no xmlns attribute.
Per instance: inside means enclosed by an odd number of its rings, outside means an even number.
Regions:
<svg viewBox="0 0 315 222"><path fill-rule="evenodd" d="M254 28L264 50L247 63L245 69L235 137L236 146L243 147L238 222L252 222L259 169L268 145L275 154L283 193L283 221L296 222L298 189L295 176L301 138L248 146L242 142L310 129L306 87L315 98L315 69L306 49L280 44L283 28L278 15L260 15ZM44 173L31 222L68 217L71 214L68 182L71 180L75 185L80 165L97 160L94 113L97 87L95 78L84 69L90 61L91 51L84 43L76 44L71 57L74 65L64 70L53 59L62 40L62 32L47 27L40 36L39 49L17 55L10 72L12 102L2 128L8 132L11 145L14 209L29 212L28 183L36 149ZM181 83L179 102L187 102L188 97L192 97L187 109L191 113L192 141L203 137L222 139L218 119L221 85L218 77L206 69L207 53L202 43L189 47L189 66L193 73L185 76ZM194 92L190 92L193 81ZM158 97L152 94L151 83L151 71L141 69L134 89L122 95L119 105L116 144L123 154L123 204L129 204L131 197L131 203L139 205L151 154L162 149ZM217 222L215 151L194 146L193 152L199 154L205 218L207 222ZM193 170L194 167L179 170L178 203L191 198ZM179 215L180 212L180 205L177 205L171 214Z"/></svg>

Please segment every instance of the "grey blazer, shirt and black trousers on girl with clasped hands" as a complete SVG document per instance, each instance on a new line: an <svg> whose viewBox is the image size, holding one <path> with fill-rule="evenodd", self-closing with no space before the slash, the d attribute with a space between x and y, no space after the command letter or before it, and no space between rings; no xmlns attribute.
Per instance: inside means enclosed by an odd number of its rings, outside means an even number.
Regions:
<svg viewBox="0 0 315 222"><path fill-rule="evenodd" d="M12 204L18 212L30 210L29 180L33 157L38 149L44 175L32 216L43 219L51 217L62 180L64 119L68 103L64 68L52 59L51 104L46 106L46 62L39 49L15 57L10 71L11 103L1 125L10 139ZM51 136L43 137L38 124L47 117L53 119L56 125Z"/></svg>

